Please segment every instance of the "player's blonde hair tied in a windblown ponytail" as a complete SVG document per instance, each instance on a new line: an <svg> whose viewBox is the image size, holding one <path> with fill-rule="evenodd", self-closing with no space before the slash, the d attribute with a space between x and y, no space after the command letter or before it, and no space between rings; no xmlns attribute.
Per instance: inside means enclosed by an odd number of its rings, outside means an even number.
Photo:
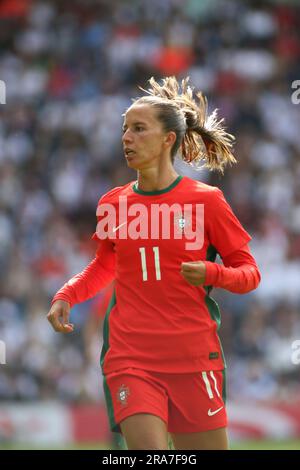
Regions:
<svg viewBox="0 0 300 470"><path fill-rule="evenodd" d="M223 127L224 119L218 120L216 109L208 115L206 97L201 92L194 94L188 81L188 77L183 79L180 86L175 77L166 77L160 85L151 77L151 88L141 88L147 96L137 98L134 104L156 107L164 130L176 133L173 159L179 151L183 161L223 173L225 166L236 163L234 136Z"/></svg>

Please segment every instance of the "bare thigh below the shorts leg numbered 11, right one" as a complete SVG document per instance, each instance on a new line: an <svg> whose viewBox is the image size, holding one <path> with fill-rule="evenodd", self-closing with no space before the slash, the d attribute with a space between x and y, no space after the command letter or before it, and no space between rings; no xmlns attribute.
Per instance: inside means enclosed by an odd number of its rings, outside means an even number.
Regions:
<svg viewBox="0 0 300 470"><path fill-rule="evenodd" d="M228 450L227 428L195 433L172 433L176 450Z"/></svg>

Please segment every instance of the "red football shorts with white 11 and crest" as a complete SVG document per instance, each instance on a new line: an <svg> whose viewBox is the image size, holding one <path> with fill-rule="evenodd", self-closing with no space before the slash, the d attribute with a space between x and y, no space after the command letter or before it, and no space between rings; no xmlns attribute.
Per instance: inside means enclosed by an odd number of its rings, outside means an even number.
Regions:
<svg viewBox="0 0 300 470"><path fill-rule="evenodd" d="M165 374L135 368L104 377L112 431L137 413L160 417L170 433L202 432L227 426L225 371Z"/></svg>

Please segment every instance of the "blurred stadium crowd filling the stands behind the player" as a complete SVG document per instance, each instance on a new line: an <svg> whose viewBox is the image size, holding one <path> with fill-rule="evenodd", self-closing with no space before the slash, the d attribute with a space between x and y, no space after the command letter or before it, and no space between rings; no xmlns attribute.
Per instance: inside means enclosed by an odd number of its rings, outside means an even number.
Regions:
<svg viewBox="0 0 300 470"><path fill-rule="evenodd" d="M121 148L137 85L189 75L236 135L219 186L251 233L262 273L246 296L214 291L229 397L299 393L300 7L237 0L0 1L0 400L100 401L105 294L46 321L61 285L92 259L99 197L135 179Z"/></svg>

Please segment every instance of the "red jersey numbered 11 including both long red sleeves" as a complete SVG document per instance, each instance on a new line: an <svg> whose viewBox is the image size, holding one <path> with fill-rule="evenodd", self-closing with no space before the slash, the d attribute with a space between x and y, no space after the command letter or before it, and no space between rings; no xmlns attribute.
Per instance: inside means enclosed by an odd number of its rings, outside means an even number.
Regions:
<svg viewBox="0 0 300 470"><path fill-rule="evenodd" d="M120 207L125 199L128 218L124 221ZM102 228L105 211L101 209L114 208L113 226L109 228L111 219L107 219L108 236L99 241L95 259L63 286L53 302L62 299L71 306L83 302L115 278L115 295L104 324L104 374L125 367L159 372L222 369L224 360L217 334L220 312L210 297L211 288L245 293L260 281L248 248L251 237L222 192L179 177L169 188L153 192L141 191L136 183L129 183L110 191L99 204ZM163 223L152 231L153 207L172 204L182 208L179 214L176 210L170 213L174 231L164 232ZM143 212L139 223L138 209ZM157 220L165 222L166 213ZM202 236L200 243L191 246L189 229L196 228ZM98 230L94 238L99 236ZM214 263L217 254L223 265ZM180 274L181 263L198 260L206 265L205 284L192 286Z"/></svg>

